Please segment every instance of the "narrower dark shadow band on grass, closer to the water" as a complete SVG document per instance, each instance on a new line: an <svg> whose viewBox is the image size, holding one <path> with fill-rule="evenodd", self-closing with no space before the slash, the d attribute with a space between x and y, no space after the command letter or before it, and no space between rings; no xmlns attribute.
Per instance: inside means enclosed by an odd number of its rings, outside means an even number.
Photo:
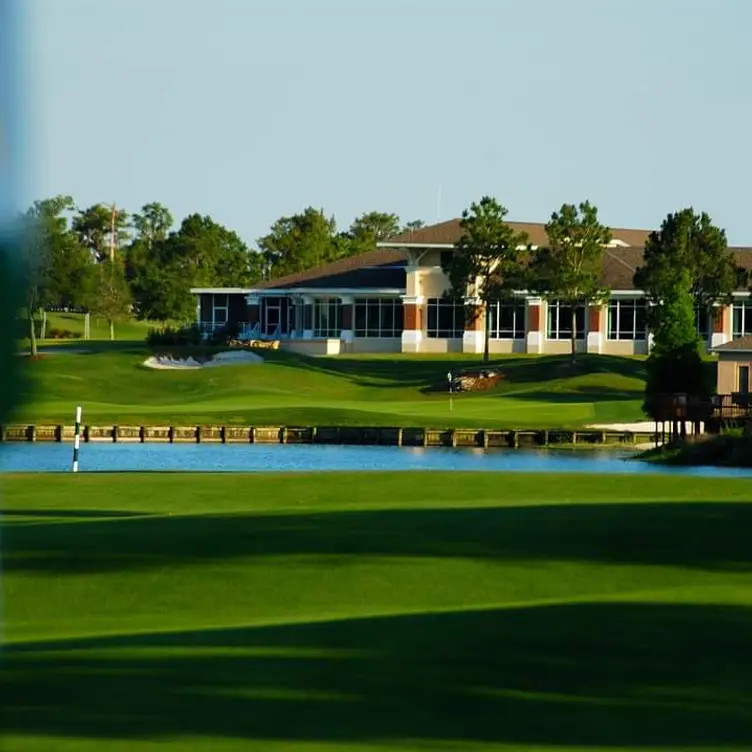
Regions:
<svg viewBox="0 0 752 752"><path fill-rule="evenodd" d="M9 524L3 566L63 575L256 556L373 555L748 571L751 532L752 504L741 503L160 516Z"/></svg>

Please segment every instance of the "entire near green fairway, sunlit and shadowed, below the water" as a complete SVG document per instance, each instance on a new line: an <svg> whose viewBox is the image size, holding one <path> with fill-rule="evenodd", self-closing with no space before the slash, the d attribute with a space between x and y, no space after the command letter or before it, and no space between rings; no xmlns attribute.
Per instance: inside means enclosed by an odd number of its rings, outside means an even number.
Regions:
<svg viewBox="0 0 752 752"><path fill-rule="evenodd" d="M7 750L752 749L748 480L10 477Z"/></svg>

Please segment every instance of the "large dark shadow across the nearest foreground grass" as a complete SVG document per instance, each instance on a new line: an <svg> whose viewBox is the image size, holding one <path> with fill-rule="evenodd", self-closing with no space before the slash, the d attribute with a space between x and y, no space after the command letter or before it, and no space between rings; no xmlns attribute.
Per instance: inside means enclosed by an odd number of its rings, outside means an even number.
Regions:
<svg viewBox="0 0 752 752"><path fill-rule="evenodd" d="M719 749L752 744L751 633L742 607L583 603L53 642L6 650L0 712L50 737Z"/></svg>

